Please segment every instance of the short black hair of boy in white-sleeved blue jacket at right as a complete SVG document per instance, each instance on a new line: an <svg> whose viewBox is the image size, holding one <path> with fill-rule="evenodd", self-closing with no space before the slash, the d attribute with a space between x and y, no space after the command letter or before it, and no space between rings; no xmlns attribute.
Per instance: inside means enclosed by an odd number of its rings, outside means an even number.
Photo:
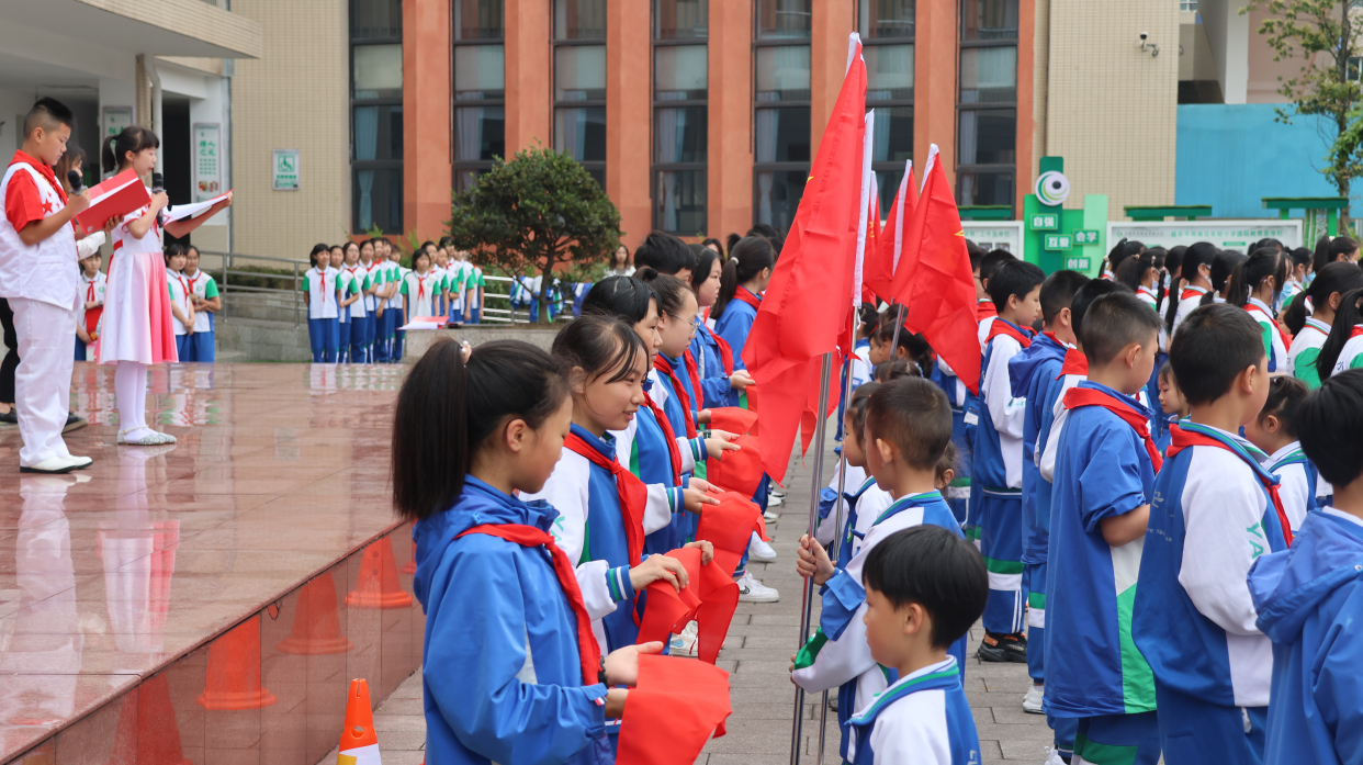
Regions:
<svg viewBox="0 0 1363 765"><path fill-rule="evenodd" d="M1225 303L1199 305L1169 342L1169 364L1189 405L1221 398L1240 371L1264 359L1259 323L1249 311Z"/></svg>

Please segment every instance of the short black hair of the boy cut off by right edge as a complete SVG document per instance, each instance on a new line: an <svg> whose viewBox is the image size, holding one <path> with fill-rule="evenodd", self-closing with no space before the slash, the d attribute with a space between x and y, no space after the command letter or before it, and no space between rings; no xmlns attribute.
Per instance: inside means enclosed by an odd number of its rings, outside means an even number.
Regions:
<svg viewBox="0 0 1363 765"><path fill-rule="evenodd" d="M1302 451L1321 477L1336 487L1353 483L1363 473L1363 370L1326 378L1296 415Z"/></svg>

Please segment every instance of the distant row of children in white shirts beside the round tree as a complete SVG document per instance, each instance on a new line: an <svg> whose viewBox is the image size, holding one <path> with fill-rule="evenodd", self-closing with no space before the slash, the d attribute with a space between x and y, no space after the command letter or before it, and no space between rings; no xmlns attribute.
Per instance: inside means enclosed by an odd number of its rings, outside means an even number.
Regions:
<svg viewBox="0 0 1363 765"><path fill-rule="evenodd" d="M412 267L387 237L316 244L298 290L316 363L398 363L412 319L480 323L487 280L448 237L413 250Z"/></svg>

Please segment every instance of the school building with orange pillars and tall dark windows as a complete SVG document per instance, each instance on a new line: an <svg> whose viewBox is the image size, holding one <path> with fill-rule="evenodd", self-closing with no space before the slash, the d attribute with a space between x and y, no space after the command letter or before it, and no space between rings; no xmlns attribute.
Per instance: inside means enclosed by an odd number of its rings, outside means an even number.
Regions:
<svg viewBox="0 0 1363 765"><path fill-rule="evenodd" d="M236 190L209 250L304 259L369 230L435 239L493 157L572 154L626 243L789 226L859 31L890 205L936 143L961 205L1021 217L1039 161L1071 198L1333 195L1315 119L1243 0L3 0L0 146L35 95L98 140L162 136L172 202ZM7 124L8 123L8 124Z"/></svg>

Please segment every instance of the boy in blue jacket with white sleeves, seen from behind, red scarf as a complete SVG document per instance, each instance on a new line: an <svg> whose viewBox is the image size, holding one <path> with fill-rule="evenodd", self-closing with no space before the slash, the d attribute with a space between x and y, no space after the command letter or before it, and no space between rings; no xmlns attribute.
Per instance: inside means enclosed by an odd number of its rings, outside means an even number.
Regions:
<svg viewBox="0 0 1363 765"><path fill-rule="evenodd" d="M1154 481L1131 638L1154 674L1164 762L1257 765L1273 645L1246 577L1289 537L1277 477L1238 431L1264 409L1268 355L1258 322L1232 305L1202 305L1179 330L1169 364L1191 416Z"/></svg>

